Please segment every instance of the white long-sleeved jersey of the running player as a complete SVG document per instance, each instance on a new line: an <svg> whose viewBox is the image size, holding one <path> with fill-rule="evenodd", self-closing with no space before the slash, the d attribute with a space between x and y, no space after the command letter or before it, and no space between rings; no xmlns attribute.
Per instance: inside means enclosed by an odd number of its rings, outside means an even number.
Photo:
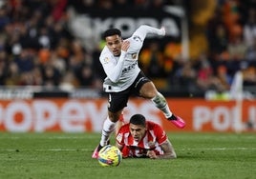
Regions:
<svg viewBox="0 0 256 179"><path fill-rule="evenodd" d="M165 30L142 25L130 38L126 39L130 41L130 48L127 51L121 50L120 56L114 56L107 46L101 51L99 60L107 74L103 83L105 91L122 91L134 83L140 71L139 50L148 33L165 35Z"/></svg>

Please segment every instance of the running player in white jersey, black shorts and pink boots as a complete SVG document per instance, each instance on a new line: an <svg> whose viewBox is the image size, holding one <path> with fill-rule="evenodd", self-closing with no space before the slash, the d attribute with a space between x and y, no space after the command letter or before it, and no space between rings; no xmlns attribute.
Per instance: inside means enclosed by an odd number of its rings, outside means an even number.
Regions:
<svg viewBox="0 0 256 179"><path fill-rule="evenodd" d="M121 31L117 29L106 30L103 34L106 46L101 51L99 60L107 75L103 89L109 95L108 116L104 121L101 139L92 155L93 158L97 158L99 149L107 145L131 95L150 99L176 127L182 129L185 126L181 117L171 112L164 96L156 89L153 82L139 69L139 50L147 34L164 36L165 29L141 25L130 38L125 40L121 37Z"/></svg>

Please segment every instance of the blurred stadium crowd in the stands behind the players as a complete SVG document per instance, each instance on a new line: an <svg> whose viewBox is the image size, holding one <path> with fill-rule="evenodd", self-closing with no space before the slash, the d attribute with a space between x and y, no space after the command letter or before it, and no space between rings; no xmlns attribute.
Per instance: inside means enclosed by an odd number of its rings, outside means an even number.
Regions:
<svg viewBox="0 0 256 179"><path fill-rule="evenodd" d="M98 62L100 46L87 50L75 38L68 27L68 8L77 12L131 7L152 10L164 5L185 7L191 55L182 59L181 44L174 42L162 48L153 41L141 50L141 68L159 89L224 91L238 70L244 72L245 86L255 86L256 1L181 2L1 0L0 86L101 89L105 75Z"/></svg>

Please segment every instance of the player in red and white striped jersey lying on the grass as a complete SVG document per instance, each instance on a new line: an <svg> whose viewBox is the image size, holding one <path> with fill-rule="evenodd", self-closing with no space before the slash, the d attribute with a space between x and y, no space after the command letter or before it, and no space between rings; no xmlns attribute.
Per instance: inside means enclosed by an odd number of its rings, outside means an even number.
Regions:
<svg viewBox="0 0 256 179"><path fill-rule="evenodd" d="M160 125L146 121L141 114L133 115L130 122L118 130L116 139L123 158L174 159L177 157Z"/></svg>

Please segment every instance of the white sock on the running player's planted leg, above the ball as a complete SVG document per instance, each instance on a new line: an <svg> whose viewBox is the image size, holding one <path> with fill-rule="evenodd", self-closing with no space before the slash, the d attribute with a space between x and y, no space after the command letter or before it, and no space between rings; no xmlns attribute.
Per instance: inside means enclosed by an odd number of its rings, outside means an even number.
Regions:
<svg viewBox="0 0 256 179"><path fill-rule="evenodd" d="M112 122L109 117L104 121L103 129L101 132L100 146L106 146L111 133L115 130L116 123Z"/></svg>

